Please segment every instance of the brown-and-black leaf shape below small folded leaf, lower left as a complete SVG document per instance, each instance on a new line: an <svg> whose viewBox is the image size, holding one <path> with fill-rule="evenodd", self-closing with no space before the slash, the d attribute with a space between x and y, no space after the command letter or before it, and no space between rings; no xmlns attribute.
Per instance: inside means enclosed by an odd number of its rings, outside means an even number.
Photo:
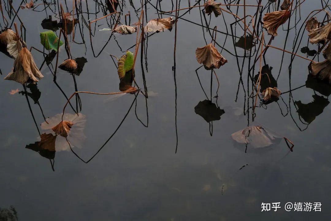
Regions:
<svg viewBox="0 0 331 221"><path fill-rule="evenodd" d="M40 141L26 145L25 148L34 150L47 159L54 159L56 138L57 135L44 133L40 135Z"/></svg>

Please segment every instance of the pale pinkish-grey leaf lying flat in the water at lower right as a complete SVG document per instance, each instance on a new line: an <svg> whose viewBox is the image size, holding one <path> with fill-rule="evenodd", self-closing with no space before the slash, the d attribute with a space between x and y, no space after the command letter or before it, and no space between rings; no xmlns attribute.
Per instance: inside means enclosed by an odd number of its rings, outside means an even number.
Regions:
<svg viewBox="0 0 331 221"><path fill-rule="evenodd" d="M274 143L275 139L280 137L269 131L266 131L261 126L252 126L233 133L231 138L238 143L250 144L254 148L262 148L270 146Z"/></svg>

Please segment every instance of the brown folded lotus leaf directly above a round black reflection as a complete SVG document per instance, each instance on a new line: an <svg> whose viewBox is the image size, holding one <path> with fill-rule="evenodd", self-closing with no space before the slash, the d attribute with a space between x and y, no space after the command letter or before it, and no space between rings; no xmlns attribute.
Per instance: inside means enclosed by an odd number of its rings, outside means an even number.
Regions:
<svg viewBox="0 0 331 221"><path fill-rule="evenodd" d="M227 62L212 43L197 48L195 55L199 64L204 64L207 69L219 68Z"/></svg>

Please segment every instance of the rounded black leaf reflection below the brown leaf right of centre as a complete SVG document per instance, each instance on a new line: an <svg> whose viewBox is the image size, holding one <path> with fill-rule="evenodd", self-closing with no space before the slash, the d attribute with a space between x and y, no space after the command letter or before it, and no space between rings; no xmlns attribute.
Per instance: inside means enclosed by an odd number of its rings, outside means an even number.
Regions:
<svg viewBox="0 0 331 221"><path fill-rule="evenodd" d="M200 101L197 106L194 107L194 111L208 123L220 120L221 116L225 113L224 110L216 107L216 104L212 103L210 100Z"/></svg>

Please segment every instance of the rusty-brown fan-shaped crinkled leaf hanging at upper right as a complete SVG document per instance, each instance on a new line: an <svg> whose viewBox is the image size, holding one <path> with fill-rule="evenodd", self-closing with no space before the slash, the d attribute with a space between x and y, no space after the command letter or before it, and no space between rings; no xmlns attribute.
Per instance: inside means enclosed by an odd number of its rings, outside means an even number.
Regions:
<svg viewBox="0 0 331 221"><path fill-rule="evenodd" d="M268 34L277 36L277 28L283 25L290 15L291 12L286 10L266 13L263 17L263 28L268 31Z"/></svg>

